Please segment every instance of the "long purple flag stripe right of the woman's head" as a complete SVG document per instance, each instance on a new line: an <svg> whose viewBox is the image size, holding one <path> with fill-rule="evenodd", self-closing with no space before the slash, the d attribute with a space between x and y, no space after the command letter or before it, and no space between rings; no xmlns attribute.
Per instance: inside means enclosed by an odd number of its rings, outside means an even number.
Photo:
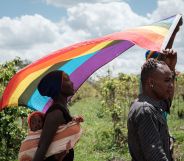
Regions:
<svg viewBox="0 0 184 161"><path fill-rule="evenodd" d="M130 41L120 41L117 44L104 48L97 52L93 57L79 66L71 75L70 79L74 82L77 90L82 83L93 74L97 69L109 63L111 60L121 55L124 51L132 47L134 43Z"/></svg>

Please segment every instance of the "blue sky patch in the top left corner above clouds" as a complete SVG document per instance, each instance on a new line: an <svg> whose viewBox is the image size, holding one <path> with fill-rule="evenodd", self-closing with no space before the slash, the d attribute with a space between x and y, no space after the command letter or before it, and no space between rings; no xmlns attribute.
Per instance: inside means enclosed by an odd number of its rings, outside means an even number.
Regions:
<svg viewBox="0 0 184 161"><path fill-rule="evenodd" d="M59 21L66 12L65 9L47 5L41 0L3 0L0 5L0 17L15 18L34 14L43 15L53 21Z"/></svg>

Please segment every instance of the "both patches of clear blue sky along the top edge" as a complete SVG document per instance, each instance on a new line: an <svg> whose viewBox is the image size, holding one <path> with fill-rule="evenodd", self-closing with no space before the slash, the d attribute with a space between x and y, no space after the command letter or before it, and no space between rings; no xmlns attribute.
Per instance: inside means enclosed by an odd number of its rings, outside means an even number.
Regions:
<svg viewBox="0 0 184 161"><path fill-rule="evenodd" d="M132 10L140 15L146 15L157 7L156 0L125 0ZM146 6L146 7L145 7ZM22 15L40 14L53 21L59 21L66 14L64 7L48 5L42 0L3 0L0 5L0 17L8 16L11 18Z"/></svg>

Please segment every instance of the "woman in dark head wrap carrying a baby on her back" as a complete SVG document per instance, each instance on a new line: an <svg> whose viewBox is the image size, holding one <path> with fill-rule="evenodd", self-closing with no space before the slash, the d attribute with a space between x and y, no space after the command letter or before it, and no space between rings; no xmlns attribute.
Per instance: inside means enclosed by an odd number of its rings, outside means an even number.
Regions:
<svg viewBox="0 0 184 161"><path fill-rule="evenodd" d="M68 97L74 95L73 83L65 72L53 71L42 78L38 85L38 91L42 96L51 97L53 104L45 114L43 130L33 161L73 161L73 149L64 154L61 153L45 158L49 145L60 125L67 124L72 120L83 122L81 116L72 118L67 109Z"/></svg>

